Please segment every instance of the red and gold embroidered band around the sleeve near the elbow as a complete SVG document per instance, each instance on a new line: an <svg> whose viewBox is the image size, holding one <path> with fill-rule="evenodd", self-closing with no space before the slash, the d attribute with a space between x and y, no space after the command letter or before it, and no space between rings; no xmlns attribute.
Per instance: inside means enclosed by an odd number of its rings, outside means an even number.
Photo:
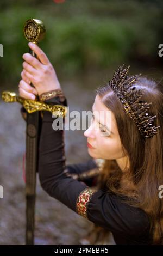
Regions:
<svg viewBox="0 0 163 256"><path fill-rule="evenodd" d="M92 194L97 191L96 188L86 187L78 196L76 202L76 212L79 215L87 218L87 205L90 202Z"/></svg>

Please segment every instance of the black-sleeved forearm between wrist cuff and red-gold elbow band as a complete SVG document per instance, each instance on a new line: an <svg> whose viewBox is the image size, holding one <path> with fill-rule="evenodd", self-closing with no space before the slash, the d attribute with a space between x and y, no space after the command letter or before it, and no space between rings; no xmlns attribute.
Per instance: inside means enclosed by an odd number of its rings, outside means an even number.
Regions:
<svg viewBox="0 0 163 256"><path fill-rule="evenodd" d="M45 102L58 104L55 97ZM43 111L39 146L40 182L50 196L76 211L77 197L87 185L68 177L64 172L66 169L64 130L53 130L52 123L55 119L52 117L52 113ZM68 189L70 187L71 191ZM67 193L68 191L69 193Z"/></svg>

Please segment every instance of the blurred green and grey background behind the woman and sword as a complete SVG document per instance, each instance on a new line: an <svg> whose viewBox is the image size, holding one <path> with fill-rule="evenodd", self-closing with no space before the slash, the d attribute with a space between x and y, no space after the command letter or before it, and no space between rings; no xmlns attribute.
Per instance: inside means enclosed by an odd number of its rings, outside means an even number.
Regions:
<svg viewBox="0 0 163 256"><path fill-rule="evenodd" d="M39 46L57 72L71 110L90 110L95 89L110 80L118 66L130 74L162 81L159 57L162 38L162 0L1 0L1 93L18 94L22 55L28 52L23 35L28 19L40 19L46 36ZM24 245L25 194L23 154L26 123L18 103L0 99L0 245ZM67 164L90 159L84 131L65 131ZM42 191L37 180L36 245L79 245L91 222Z"/></svg>

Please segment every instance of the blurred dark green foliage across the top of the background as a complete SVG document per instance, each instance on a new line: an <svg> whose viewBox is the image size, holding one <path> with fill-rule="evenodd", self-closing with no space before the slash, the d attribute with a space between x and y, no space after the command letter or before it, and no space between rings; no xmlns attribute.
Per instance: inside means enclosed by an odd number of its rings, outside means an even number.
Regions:
<svg viewBox="0 0 163 256"><path fill-rule="evenodd" d="M28 51L23 35L26 20L45 23L40 47L57 73L72 76L108 69L132 60L158 62L161 43L161 1L1 0L0 43L4 47L1 82L17 82L22 54Z"/></svg>

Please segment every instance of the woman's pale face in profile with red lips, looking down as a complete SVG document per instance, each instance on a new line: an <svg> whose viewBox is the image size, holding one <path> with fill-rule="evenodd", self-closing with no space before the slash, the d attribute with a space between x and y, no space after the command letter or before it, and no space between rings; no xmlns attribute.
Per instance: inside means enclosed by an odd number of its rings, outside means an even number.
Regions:
<svg viewBox="0 0 163 256"><path fill-rule="evenodd" d="M120 159L124 155L114 114L101 102L98 95L93 103L92 112L91 125L84 132L87 143L93 147L89 147L88 144L90 156L97 159Z"/></svg>

